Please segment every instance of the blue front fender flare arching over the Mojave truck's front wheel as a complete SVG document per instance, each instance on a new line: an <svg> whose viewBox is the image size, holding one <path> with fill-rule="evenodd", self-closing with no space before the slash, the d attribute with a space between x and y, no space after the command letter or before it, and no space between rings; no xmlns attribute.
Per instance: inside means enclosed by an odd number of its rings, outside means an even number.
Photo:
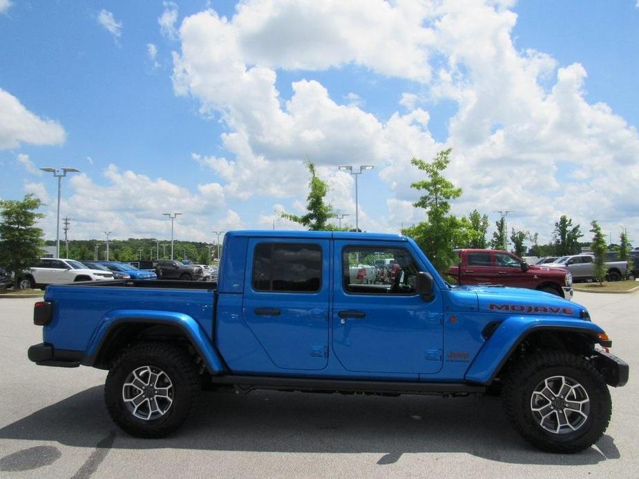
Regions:
<svg viewBox="0 0 639 479"><path fill-rule="evenodd" d="M586 334L593 338L593 342L597 342L598 335L604 332L599 326L589 321L544 316L508 317L497 326L493 335L481 347L466 371L466 380L490 384L526 336L540 330Z"/></svg>

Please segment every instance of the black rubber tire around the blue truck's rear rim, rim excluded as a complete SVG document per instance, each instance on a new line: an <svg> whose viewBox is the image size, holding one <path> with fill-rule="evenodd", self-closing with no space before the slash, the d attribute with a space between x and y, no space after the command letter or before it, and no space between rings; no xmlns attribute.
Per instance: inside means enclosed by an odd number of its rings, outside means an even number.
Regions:
<svg viewBox="0 0 639 479"><path fill-rule="evenodd" d="M140 419L126 406L123 388L126 378L142 366L164 371L172 383L172 402L163 416ZM200 378L192 358L171 344L137 344L124 351L111 366L104 384L109 415L123 431L140 438L161 438L178 429L187 419L200 394Z"/></svg>

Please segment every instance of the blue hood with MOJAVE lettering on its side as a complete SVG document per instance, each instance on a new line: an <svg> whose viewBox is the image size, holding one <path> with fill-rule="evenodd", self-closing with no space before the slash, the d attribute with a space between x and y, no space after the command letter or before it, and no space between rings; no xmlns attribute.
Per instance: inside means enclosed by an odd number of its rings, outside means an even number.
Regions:
<svg viewBox="0 0 639 479"><path fill-rule="evenodd" d="M580 304L534 289L503 286L457 286L456 289L476 293L479 311L483 313L575 318L583 318L588 314Z"/></svg>

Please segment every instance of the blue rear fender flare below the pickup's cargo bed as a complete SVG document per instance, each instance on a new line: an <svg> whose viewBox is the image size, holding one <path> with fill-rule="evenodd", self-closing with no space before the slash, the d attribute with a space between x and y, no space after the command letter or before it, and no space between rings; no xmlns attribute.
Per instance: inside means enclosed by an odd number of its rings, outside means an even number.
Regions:
<svg viewBox="0 0 639 479"><path fill-rule="evenodd" d="M225 366L220 359L220 355L213 348L213 344L202 331L200 325L193 317L184 313L173 311L153 311L140 309L115 309L104 315L102 321L97 325L93 335L84 350L85 366L93 366L95 358L100 353L104 340L113 328L120 324L169 324L178 326L184 335L189 338L193 348L206 364L209 373L219 374L225 371Z"/></svg>

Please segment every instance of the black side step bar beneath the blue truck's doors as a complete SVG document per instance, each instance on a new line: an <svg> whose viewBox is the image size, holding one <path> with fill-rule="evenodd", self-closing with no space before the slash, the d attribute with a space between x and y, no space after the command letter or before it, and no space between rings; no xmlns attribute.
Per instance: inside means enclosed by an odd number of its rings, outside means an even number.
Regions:
<svg viewBox="0 0 639 479"><path fill-rule="evenodd" d="M238 390L323 391L374 394L468 395L486 392L485 386L449 382L359 381L342 379L285 378L281 376L213 376L213 384L231 384Z"/></svg>

